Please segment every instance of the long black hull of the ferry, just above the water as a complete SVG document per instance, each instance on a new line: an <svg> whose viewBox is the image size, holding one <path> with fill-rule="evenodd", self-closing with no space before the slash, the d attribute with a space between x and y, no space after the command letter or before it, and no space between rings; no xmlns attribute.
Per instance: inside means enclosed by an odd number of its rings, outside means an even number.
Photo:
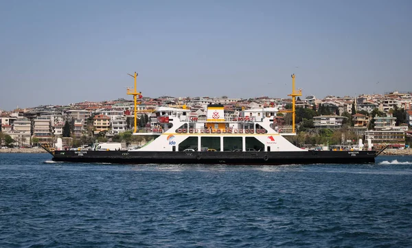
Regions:
<svg viewBox="0 0 412 248"><path fill-rule="evenodd" d="M376 151L54 151L56 162L113 164L365 164Z"/></svg>

